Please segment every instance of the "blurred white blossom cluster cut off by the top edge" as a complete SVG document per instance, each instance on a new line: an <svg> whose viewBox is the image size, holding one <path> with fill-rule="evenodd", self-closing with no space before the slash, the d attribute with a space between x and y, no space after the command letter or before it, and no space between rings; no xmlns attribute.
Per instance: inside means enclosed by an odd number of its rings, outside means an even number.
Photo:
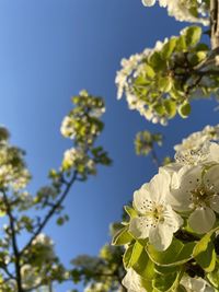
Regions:
<svg viewBox="0 0 219 292"><path fill-rule="evenodd" d="M146 7L155 4L155 0L142 0ZM159 0L160 7L168 9L170 16L177 21L209 25L209 2L206 0Z"/></svg>

